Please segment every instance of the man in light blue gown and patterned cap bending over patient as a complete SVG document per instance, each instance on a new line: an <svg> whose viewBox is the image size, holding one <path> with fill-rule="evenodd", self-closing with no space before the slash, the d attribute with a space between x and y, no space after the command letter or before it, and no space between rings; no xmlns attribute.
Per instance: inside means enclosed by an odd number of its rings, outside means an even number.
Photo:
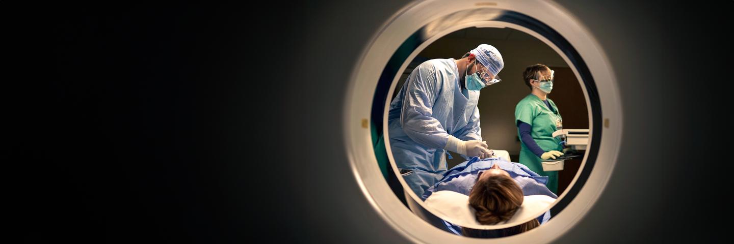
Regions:
<svg viewBox="0 0 734 244"><path fill-rule="evenodd" d="M416 67L390 103L388 136L403 179L417 195L443 178L447 151L462 157L494 154L482 141L479 90L500 82L504 61L482 44L462 59L431 59Z"/></svg>

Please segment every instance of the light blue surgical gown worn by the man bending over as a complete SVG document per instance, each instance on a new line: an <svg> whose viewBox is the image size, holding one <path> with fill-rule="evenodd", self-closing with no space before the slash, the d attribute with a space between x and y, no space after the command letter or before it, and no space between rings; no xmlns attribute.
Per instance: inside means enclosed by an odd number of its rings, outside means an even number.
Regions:
<svg viewBox="0 0 734 244"><path fill-rule="evenodd" d="M482 141L479 91L462 89L460 75L454 59L431 59L410 73L390 103L390 149L398 168L412 171L403 178L419 197L443 178L449 134Z"/></svg>

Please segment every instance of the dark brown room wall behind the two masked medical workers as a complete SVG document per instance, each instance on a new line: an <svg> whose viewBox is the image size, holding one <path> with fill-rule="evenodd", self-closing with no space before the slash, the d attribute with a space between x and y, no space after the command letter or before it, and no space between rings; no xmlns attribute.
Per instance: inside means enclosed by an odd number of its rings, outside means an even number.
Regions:
<svg viewBox="0 0 734 244"><path fill-rule="evenodd" d="M499 73L502 82L482 89L482 94L479 97L478 106L482 121L482 138L487 141L487 144L491 148L504 149L511 155L511 160L517 161L517 155L520 153L520 141L517 139L517 127L515 127L515 105L530 92L530 89L523 82L523 70L528 65L537 63L547 64L550 67L559 69L559 71L565 68L570 72L570 69L561 56L553 51L551 47L528 34L517 31L512 31L512 34L503 37L503 40L452 37L449 34L433 42L424 51L421 51L416 59L457 59L482 43L498 48L505 62L505 67ZM411 67L409 66L407 70L410 71ZM404 73L401 76L399 84L396 86L398 89L404 83L408 73L410 72ZM554 91L559 94L563 93L564 95L575 97L556 98L553 95L549 97L558 104L562 114L564 111L586 111L585 104L579 105L579 108L569 106L567 103L563 104L563 106L559 104L564 103L564 100L584 100L583 94L581 93L562 92L562 89L581 91L578 81L571 81L568 84L568 86L564 85L565 87L556 86L554 87ZM567 119L565 118L567 115L563 115L564 119ZM588 121L586 121L586 124L588 124ZM461 163L462 160L462 158L454 157L448 160L448 166L454 166Z"/></svg>

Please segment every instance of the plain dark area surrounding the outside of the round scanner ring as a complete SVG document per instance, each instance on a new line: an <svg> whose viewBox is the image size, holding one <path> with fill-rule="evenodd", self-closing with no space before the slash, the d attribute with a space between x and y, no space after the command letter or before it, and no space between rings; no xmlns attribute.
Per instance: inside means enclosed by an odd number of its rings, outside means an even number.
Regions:
<svg viewBox="0 0 734 244"><path fill-rule="evenodd" d="M4 7L13 233L406 242L360 196L341 113L357 56L407 1L267 4ZM557 242L727 237L733 1L559 4L605 48L625 117L608 187Z"/></svg>

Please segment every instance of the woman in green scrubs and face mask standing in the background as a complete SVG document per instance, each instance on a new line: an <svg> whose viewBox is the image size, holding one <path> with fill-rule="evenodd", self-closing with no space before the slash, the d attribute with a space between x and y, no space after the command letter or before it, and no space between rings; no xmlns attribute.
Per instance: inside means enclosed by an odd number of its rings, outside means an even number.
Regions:
<svg viewBox="0 0 734 244"><path fill-rule="evenodd" d="M523 80L531 92L515 106L515 125L522 142L519 163L547 176L548 189L558 194L558 171L543 171L540 164L541 160L563 155L561 140L551 136L563 128L561 113L548 98L553 89L553 70L544 64L533 64L523 72Z"/></svg>

